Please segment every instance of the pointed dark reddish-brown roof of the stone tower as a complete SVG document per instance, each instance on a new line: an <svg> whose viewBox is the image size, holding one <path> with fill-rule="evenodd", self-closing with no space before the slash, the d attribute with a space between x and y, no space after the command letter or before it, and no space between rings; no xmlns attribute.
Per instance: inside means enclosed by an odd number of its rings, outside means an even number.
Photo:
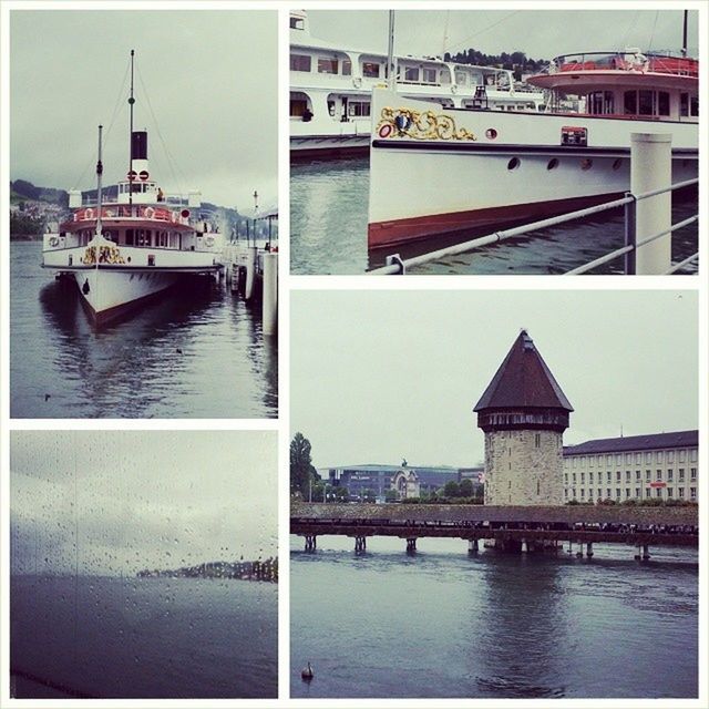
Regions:
<svg viewBox="0 0 709 709"><path fill-rule="evenodd" d="M473 411L520 407L574 410L526 330L520 332Z"/></svg>

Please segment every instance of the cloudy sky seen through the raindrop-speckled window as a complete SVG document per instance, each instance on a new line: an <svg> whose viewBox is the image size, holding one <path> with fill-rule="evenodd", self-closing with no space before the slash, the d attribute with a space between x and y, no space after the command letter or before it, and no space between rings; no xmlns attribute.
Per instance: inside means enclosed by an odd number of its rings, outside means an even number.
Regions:
<svg viewBox="0 0 709 709"><path fill-rule="evenodd" d="M16 572L277 554L275 432L13 431L10 486Z"/></svg>

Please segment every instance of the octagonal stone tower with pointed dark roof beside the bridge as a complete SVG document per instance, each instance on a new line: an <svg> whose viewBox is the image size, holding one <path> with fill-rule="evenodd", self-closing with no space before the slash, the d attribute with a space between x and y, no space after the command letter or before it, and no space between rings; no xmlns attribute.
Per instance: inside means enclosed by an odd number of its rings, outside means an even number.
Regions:
<svg viewBox="0 0 709 709"><path fill-rule="evenodd" d="M485 432L486 505L564 504L572 404L522 330L473 411Z"/></svg>

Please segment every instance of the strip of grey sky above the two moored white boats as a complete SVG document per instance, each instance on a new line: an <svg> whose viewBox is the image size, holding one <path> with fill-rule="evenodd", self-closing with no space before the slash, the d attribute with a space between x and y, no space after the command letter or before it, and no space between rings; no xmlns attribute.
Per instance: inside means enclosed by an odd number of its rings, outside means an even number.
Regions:
<svg viewBox="0 0 709 709"><path fill-rule="evenodd" d="M636 3L631 10L400 10L395 51L443 54L473 47L486 54L522 51L534 59L552 59L565 52L626 47L679 50L682 11L644 10L644 6ZM387 11L311 10L308 17L314 37L350 49L387 51ZM690 13L689 44L697 48L697 12Z"/></svg>

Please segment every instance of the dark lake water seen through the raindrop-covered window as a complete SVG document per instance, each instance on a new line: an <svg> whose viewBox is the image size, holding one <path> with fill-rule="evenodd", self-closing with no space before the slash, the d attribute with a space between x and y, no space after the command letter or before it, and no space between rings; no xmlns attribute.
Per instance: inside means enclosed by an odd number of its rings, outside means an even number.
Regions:
<svg viewBox="0 0 709 709"><path fill-rule="evenodd" d="M10 592L19 698L278 695L275 584L14 576Z"/></svg>

